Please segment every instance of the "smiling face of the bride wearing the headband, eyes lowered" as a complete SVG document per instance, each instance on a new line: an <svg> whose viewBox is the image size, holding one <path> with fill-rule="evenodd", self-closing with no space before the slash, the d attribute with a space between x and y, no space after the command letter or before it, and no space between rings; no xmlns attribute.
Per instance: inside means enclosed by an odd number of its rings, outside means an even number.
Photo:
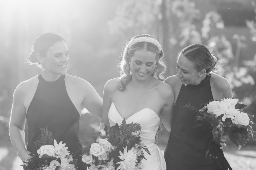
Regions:
<svg viewBox="0 0 256 170"><path fill-rule="evenodd" d="M139 81L147 80L154 72L157 54L145 49L135 51L130 58L132 77Z"/></svg>

